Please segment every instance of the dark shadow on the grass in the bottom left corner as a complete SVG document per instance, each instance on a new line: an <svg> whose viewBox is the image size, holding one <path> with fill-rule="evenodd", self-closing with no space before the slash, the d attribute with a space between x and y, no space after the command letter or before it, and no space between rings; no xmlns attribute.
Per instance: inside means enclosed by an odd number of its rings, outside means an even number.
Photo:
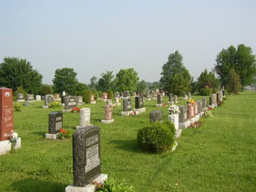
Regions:
<svg viewBox="0 0 256 192"><path fill-rule="evenodd" d="M20 192L57 192L64 191L65 187L67 186L65 186L65 184L63 183L57 183L41 179L26 178L12 183L10 185L10 188Z"/></svg>

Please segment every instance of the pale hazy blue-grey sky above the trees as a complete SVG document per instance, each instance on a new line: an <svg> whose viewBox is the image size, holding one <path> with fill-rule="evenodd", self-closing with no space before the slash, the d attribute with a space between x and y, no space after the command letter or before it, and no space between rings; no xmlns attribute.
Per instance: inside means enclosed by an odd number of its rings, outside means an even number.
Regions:
<svg viewBox="0 0 256 192"><path fill-rule="evenodd" d="M86 84L128 68L153 82L178 50L197 79L231 45L256 54L255 10L254 0L0 0L0 63L26 58L47 84L60 68Z"/></svg>

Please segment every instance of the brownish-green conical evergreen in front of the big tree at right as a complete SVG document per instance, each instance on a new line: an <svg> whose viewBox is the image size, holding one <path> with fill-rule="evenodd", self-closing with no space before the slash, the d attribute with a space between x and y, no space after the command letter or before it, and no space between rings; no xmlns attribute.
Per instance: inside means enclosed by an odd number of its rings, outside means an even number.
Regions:
<svg viewBox="0 0 256 192"><path fill-rule="evenodd" d="M238 94L241 90L242 84L240 77L234 69L231 69L227 75L227 91L230 93Z"/></svg>

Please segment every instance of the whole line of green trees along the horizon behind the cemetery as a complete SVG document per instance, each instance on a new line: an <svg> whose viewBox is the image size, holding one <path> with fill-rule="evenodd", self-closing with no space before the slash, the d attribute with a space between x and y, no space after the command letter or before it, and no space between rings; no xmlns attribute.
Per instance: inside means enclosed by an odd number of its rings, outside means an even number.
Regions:
<svg viewBox="0 0 256 192"><path fill-rule="evenodd" d="M189 74L178 50L169 54L167 62L162 66L161 78L156 82L140 80L133 68L120 69L117 74L106 71L101 73L99 79L93 76L89 84L79 82L76 76L73 68L56 69L53 84L42 84L42 75L26 59L5 57L0 64L0 86L11 88L14 92L23 90L35 95L46 95L66 91L70 95L80 95L86 90L141 93L161 88L180 96L184 91L210 95L217 92L219 87L238 94L242 87L256 82L256 61L252 49L241 44L237 48L230 46L222 49L216 56L213 69L204 69L197 80Z"/></svg>

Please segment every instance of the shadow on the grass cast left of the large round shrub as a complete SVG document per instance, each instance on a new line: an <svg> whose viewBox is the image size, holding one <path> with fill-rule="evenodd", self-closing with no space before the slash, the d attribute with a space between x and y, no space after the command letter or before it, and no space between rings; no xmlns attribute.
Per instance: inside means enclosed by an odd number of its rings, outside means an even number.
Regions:
<svg viewBox="0 0 256 192"><path fill-rule="evenodd" d="M132 139L132 140L112 140L110 142L115 144L115 147L117 147L119 150L135 152L135 153L145 153L139 147L138 142L137 142L136 139Z"/></svg>

